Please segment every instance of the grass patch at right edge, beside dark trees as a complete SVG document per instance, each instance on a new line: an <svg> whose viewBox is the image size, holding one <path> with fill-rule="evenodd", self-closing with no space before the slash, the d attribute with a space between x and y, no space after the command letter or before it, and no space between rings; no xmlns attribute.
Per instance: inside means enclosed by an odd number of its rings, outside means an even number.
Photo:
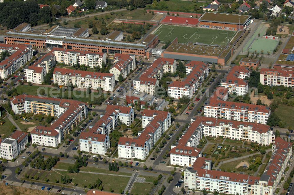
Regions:
<svg viewBox="0 0 294 195"><path fill-rule="evenodd" d="M275 109L276 115L286 123L286 127L294 128L294 121L292 117L289 117L293 114L293 107L288 105L279 104L279 107Z"/></svg>

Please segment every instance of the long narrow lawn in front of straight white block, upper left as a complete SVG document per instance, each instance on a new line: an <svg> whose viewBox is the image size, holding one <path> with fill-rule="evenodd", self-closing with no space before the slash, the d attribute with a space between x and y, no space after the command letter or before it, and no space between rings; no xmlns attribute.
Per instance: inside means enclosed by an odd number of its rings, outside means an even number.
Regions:
<svg viewBox="0 0 294 195"><path fill-rule="evenodd" d="M79 89L74 91L64 91L62 89L56 87L39 87L39 86L29 86L29 85L19 85L16 87L16 90L19 94L26 93L28 95L37 95L38 92L45 91L48 97L58 97L58 98L65 98L65 99L74 99L82 102L93 102L93 100L101 100L103 102L107 97L106 93L100 95L97 92L92 92L91 94L87 94L86 91L81 91ZM70 98L69 98L70 97Z"/></svg>

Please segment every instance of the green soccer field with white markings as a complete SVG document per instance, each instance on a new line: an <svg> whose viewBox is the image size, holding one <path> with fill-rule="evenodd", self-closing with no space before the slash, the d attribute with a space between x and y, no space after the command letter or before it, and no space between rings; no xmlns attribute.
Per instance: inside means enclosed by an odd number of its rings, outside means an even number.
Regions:
<svg viewBox="0 0 294 195"><path fill-rule="evenodd" d="M226 46L236 33L235 31L164 24L153 34L158 35L161 42L173 41L178 37L178 43L191 42Z"/></svg>

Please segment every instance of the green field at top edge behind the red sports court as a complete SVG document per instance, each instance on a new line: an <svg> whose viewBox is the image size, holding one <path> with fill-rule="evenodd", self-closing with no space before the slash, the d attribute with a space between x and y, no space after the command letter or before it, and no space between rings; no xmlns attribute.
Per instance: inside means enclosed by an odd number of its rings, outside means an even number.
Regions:
<svg viewBox="0 0 294 195"><path fill-rule="evenodd" d="M161 3L161 2L159 2ZM164 1L165 8L162 8L159 4L157 7L152 5L146 5L147 9L155 10L167 10L167 11L183 11L183 12L195 12L195 6L207 6L208 3L192 3L191 1L179 1L179 0L170 0ZM202 9L201 9L202 10ZM200 10L199 10L200 11Z"/></svg>

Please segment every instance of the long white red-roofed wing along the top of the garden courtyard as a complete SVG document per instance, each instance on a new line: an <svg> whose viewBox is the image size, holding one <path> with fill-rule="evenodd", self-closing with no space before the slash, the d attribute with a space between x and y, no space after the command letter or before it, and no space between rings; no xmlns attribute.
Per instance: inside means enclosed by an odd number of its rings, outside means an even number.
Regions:
<svg viewBox="0 0 294 195"><path fill-rule="evenodd" d="M275 135L268 125L211 117L201 117L201 120L204 136L223 136L261 145L270 145L275 140Z"/></svg>

